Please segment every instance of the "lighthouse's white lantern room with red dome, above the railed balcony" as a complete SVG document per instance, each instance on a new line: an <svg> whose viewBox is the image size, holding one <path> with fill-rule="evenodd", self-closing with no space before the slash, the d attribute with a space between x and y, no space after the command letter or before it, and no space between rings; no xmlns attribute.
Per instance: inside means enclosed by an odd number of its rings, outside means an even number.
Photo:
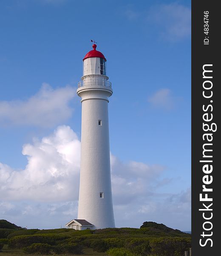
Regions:
<svg viewBox="0 0 221 256"><path fill-rule="evenodd" d="M93 50L88 52L83 58L83 76L87 75L104 75L106 76L107 61L102 52L96 50L96 44L92 45Z"/></svg>

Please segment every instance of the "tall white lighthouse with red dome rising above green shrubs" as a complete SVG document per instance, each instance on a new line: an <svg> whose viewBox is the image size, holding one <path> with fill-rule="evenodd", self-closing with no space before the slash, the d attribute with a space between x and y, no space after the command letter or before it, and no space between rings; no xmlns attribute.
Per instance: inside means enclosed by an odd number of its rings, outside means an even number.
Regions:
<svg viewBox="0 0 221 256"><path fill-rule="evenodd" d="M111 192L108 102L113 90L106 58L96 50L83 58L77 94L82 98L81 169L78 220L94 229L115 227Z"/></svg>

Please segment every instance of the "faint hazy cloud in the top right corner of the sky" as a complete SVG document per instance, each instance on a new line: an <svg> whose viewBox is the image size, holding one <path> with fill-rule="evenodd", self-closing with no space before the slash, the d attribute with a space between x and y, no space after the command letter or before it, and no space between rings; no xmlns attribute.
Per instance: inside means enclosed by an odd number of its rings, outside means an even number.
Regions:
<svg viewBox="0 0 221 256"><path fill-rule="evenodd" d="M138 21L141 26L147 27L147 32L153 30L167 41L179 41L190 38L191 9L178 3L156 4L148 9L136 11L128 4L123 14L128 20Z"/></svg>

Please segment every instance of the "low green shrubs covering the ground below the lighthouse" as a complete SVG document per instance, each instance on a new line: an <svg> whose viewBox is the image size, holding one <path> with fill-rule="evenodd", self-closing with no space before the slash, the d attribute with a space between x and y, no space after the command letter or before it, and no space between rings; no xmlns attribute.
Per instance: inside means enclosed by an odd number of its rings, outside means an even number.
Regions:
<svg viewBox="0 0 221 256"><path fill-rule="evenodd" d="M44 255L82 254L85 248L92 248L109 256L182 256L191 247L191 235L164 224L144 222L141 228L13 230L0 239L0 244Z"/></svg>

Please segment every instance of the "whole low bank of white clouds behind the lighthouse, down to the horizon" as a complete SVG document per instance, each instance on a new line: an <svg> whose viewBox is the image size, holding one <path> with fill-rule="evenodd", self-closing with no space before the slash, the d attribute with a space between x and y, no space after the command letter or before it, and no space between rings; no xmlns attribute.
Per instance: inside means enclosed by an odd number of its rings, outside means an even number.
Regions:
<svg viewBox="0 0 221 256"><path fill-rule="evenodd" d="M23 154L28 160L23 170L0 163L2 218L29 228L64 226L76 218L80 141L74 131L69 126L59 126L53 134L24 145ZM184 223L190 222L190 190L159 193L159 187L162 191L163 186L173 182L161 178L164 169L136 161L124 163L111 155L117 227L139 227L143 221L152 220L181 228L180 218Z"/></svg>

